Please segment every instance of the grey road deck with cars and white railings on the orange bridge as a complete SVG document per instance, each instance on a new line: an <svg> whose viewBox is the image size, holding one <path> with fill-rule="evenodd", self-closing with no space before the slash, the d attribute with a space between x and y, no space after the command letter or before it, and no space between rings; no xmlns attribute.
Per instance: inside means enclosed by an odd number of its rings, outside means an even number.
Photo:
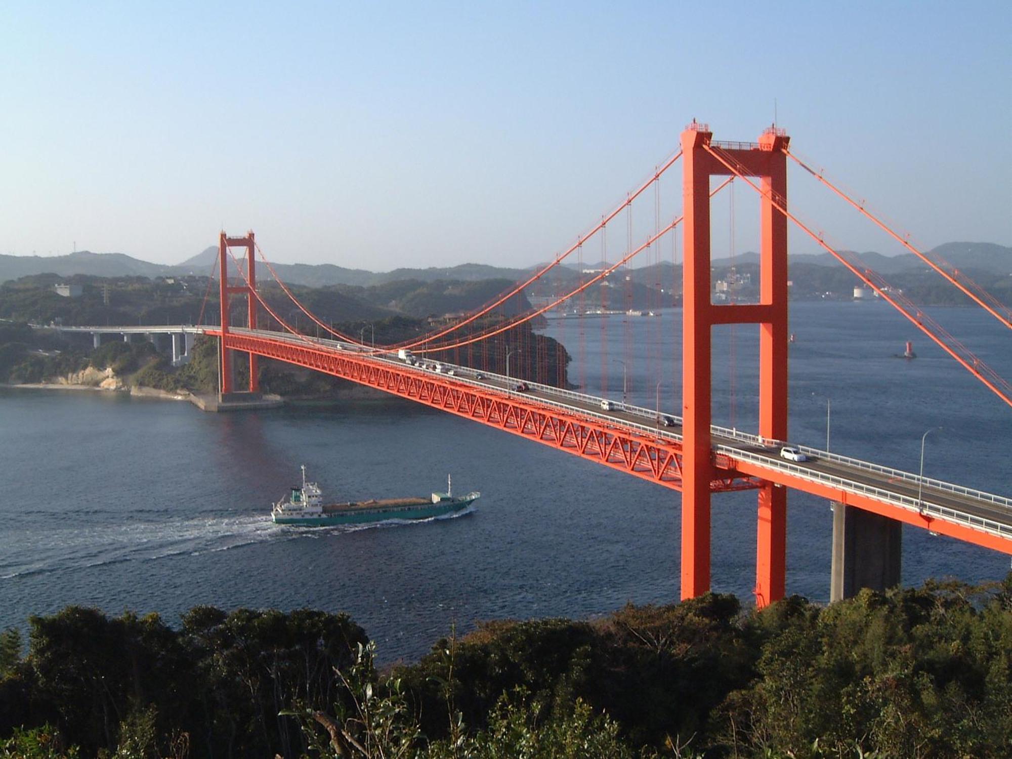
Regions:
<svg viewBox="0 0 1012 759"><path fill-rule="evenodd" d="M64 328L67 329L67 328ZM78 327L74 331L194 331L220 335L217 327ZM342 343L336 340L312 339L266 330L233 329L232 335L263 339L314 351L325 351L332 356L350 358L356 363L382 365L398 373L424 376L447 387L472 387L483 393L526 403L541 404L564 411L571 416L595 424L621 428L641 439L653 442L677 443L680 447L681 419L654 409L614 403L605 410L604 399L546 385L526 383L527 390L516 390L518 381L501 374L480 372L465 366L440 361L443 371L432 367L436 361L419 356L422 366L411 366L389 352L374 352L369 348ZM257 347L255 344L248 347ZM236 349L239 349L238 347ZM271 357L265 345L254 352ZM318 368L304 363L311 368ZM452 369L453 374L448 370ZM321 369L325 370L325 369ZM333 373L333 372L328 372ZM341 374L337 374L341 375ZM349 376L356 382L354 376ZM381 388L383 389L383 388ZM671 426L662 426L668 417ZM817 448L798 446L809 459L788 461L780 457L783 441L762 440L748 433L714 426L711 430L714 453L723 454L728 469L735 475L759 478L783 487L794 488L813 495L849 506L872 511L893 519L947 534L961 540L1012 554L1012 499L963 488L930 478L919 478L909 472L890 469L868 461L829 453ZM727 474L716 470L716 477ZM662 483L677 488L671 482ZM921 490L918 498L918 490Z"/></svg>

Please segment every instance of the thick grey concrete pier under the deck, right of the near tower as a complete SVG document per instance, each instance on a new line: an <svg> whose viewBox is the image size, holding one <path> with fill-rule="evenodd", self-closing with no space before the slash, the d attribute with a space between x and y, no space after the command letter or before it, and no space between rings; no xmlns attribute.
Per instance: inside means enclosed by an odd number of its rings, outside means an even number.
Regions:
<svg viewBox="0 0 1012 759"><path fill-rule="evenodd" d="M902 522L833 503L830 602L852 598L861 588L899 585L902 556Z"/></svg>

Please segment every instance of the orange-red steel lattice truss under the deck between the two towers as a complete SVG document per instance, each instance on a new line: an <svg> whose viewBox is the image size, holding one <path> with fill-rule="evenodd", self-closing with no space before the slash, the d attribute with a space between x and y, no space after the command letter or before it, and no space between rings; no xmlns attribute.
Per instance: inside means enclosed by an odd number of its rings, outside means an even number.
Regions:
<svg viewBox="0 0 1012 759"><path fill-rule="evenodd" d="M221 336L219 331L208 330L207 334ZM681 444L675 440L647 438L591 417L581 418L562 409L541 406L531 398L486 391L346 351L235 333L229 333L226 342L230 350L247 351L367 385L673 490L681 489ZM721 458L725 463L730 460L727 456ZM759 483L734 471L719 471L711 487L714 492L754 490Z"/></svg>

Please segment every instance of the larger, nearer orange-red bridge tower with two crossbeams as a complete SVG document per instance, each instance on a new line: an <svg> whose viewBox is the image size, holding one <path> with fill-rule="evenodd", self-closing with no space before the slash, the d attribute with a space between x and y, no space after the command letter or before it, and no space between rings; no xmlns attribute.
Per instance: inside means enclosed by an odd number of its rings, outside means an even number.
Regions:
<svg viewBox="0 0 1012 759"><path fill-rule="evenodd" d="M693 121L681 135L684 194L682 314L682 598L709 590L710 454L712 415L712 327L759 324L759 434L787 437L787 220L768 194L786 207L789 138L775 128L758 144L719 143L705 124ZM714 306L710 289L709 178L733 172L712 151L745 176L759 177L760 303ZM787 498L784 488L766 483L759 491L756 603L783 597Z"/></svg>

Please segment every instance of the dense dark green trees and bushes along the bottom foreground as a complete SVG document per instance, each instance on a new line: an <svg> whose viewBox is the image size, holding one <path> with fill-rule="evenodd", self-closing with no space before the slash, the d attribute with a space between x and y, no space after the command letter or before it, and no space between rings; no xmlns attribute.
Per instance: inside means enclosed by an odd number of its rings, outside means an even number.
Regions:
<svg viewBox="0 0 1012 759"><path fill-rule="evenodd" d="M1005 757L1012 575L479 625L384 673L346 615L69 607L0 637L0 757ZM75 749L64 749L74 746ZM6 753L5 753L6 752Z"/></svg>

